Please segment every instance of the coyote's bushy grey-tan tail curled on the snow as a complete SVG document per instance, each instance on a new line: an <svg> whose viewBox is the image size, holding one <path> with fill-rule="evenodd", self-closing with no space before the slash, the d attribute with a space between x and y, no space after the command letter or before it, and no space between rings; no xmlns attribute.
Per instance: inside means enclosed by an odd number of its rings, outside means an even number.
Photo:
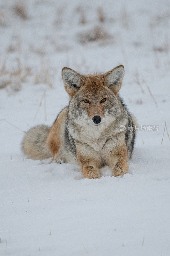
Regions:
<svg viewBox="0 0 170 256"><path fill-rule="evenodd" d="M48 147L47 137L50 127L46 125L37 125L31 128L24 136L21 146L22 151L28 158L34 160L43 160L52 157Z"/></svg>

